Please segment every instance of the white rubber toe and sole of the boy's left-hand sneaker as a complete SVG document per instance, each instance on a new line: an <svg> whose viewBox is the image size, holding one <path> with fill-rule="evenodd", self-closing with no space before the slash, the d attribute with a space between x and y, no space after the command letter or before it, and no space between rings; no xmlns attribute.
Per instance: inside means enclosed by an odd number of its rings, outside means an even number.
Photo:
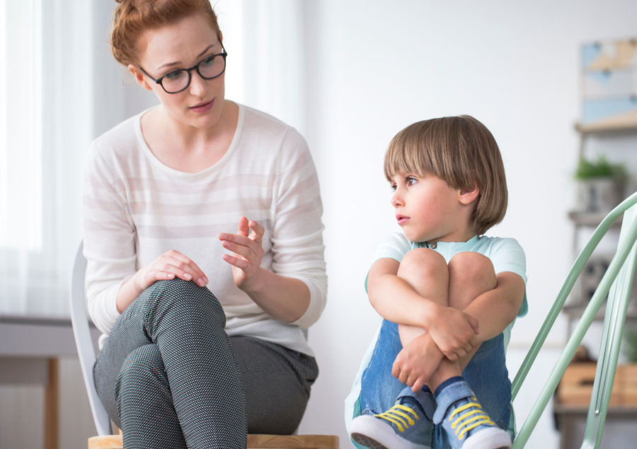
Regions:
<svg viewBox="0 0 637 449"><path fill-rule="evenodd" d="M350 438L369 449L431 449L430 446L401 438L389 424L379 425L379 419L369 415L357 416L352 421Z"/></svg>

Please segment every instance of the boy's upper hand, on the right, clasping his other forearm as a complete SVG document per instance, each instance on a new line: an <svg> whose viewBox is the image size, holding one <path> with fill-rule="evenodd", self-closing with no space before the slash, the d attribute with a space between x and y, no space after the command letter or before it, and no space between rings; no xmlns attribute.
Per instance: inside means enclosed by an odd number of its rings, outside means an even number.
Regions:
<svg viewBox="0 0 637 449"><path fill-rule="evenodd" d="M455 361L469 354L477 345L478 320L461 310L441 307L427 331L442 354Z"/></svg>

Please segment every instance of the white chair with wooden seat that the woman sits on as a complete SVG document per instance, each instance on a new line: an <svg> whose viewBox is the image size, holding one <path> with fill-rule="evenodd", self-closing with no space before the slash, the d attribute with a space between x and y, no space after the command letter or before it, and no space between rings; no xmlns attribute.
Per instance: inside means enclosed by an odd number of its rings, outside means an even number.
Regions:
<svg viewBox="0 0 637 449"><path fill-rule="evenodd" d="M88 329L88 315L84 298L84 272L86 259L84 245L80 242L75 255L73 273L71 274L71 322L79 355L82 377L91 403L93 420L98 436L88 438L88 449L122 449L122 436L111 435L110 419L97 395L93 383L93 364L95 348L91 332ZM338 436L335 435L248 435L248 449L287 448L287 449L338 449Z"/></svg>

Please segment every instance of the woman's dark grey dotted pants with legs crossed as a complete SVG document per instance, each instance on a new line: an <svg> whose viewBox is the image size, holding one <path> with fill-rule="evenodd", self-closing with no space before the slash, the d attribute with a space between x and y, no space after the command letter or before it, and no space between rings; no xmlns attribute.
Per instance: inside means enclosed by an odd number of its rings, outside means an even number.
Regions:
<svg viewBox="0 0 637 449"><path fill-rule="evenodd" d="M318 375L314 358L227 337L207 288L157 281L115 322L94 367L125 448L246 447L246 433L292 433Z"/></svg>

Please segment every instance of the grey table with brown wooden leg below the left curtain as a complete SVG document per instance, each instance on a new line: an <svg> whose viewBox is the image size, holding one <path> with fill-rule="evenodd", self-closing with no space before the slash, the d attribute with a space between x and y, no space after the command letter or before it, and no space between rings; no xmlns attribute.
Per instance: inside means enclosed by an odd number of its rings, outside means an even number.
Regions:
<svg viewBox="0 0 637 449"><path fill-rule="evenodd" d="M101 332L91 327L93 341ZM76 357L70 317L0 315L0 383L44 385L44 447L59 442L58 358Z"/></svg>

